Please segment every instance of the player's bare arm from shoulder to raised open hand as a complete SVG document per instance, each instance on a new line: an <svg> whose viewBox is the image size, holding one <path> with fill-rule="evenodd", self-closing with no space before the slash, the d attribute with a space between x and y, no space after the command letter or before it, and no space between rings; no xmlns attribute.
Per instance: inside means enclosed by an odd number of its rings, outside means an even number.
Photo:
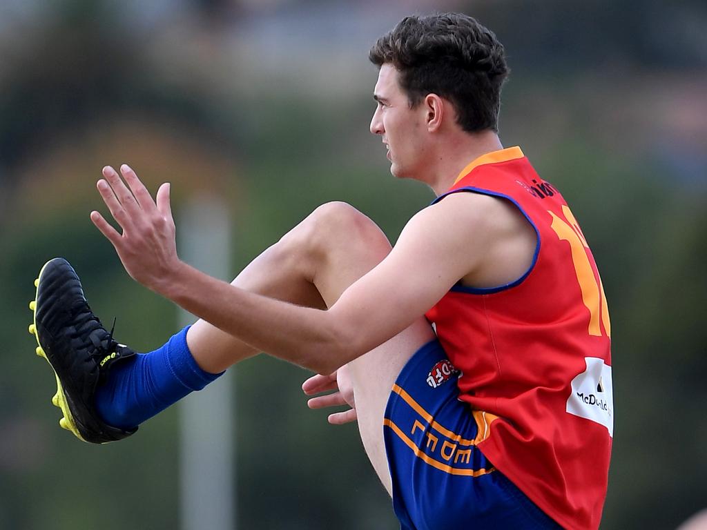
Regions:
<svg viewBox="0 0 707 530"><path fill-rule="evenodd" d="M489 211L497 199L449 196L414 216L390 254L344 291L329 310L288 304L211 278L177 258L168 189L155 204L132 170L132 194L110 175L99 190L122 235L92 218L128 273L146 287L245 343L319 373L333 372L405 329L496 245ZM105 184L105 183L104 183ZM122 188L121 189L121 186ZM496 234L498 235L498 234Z"/></svg>

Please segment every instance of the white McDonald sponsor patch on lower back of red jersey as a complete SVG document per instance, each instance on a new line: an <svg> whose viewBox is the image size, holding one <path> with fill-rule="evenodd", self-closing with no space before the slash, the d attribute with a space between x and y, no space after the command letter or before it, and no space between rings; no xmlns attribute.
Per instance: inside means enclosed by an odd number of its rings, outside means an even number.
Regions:
<svg viewBox="0 0 707 530"><path fill-rule="evenodd" d="M597 357L585 357L587 370L572 379L566 411L604 425L614 437L612 367Z"/></svg>

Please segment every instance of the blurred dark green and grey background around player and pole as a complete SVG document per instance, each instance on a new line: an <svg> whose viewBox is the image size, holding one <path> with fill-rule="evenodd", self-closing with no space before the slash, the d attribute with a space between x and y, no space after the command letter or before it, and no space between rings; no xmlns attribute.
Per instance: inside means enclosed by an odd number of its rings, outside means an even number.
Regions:
<svg viewBox="0 0 707 530"><path fill-rule="evenodd" d="M600 264L617 404L602 529L674 529L707 505L703 1L0 0L0 528L180 526L179 408L78 443L26 332L56 255L120 341L149 351L177 328L88 219L100 168L172 182L177 231L190 196L225 197L233 276L332 199L394 241L432 196L390 177L368 132L367 52L433 10L506 45L501 139L563 190ZM305 406L304 370L260 355L231 371L239 528L397 528L355 426Z"/></svg>

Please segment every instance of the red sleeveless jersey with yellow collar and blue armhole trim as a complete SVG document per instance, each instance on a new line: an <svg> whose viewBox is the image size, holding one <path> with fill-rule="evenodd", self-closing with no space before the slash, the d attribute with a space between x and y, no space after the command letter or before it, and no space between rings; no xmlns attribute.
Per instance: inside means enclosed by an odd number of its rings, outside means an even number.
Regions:
<svg viewBox="0 0 707 530"><path fill-rule="evenodd" d="M530 269L496 288L455 285L426 317L462 375L478 447L544 512L597 529L613 435L609 312L585 237L520 148L474 160L443 197L498 196L537 233Z"/></svg>

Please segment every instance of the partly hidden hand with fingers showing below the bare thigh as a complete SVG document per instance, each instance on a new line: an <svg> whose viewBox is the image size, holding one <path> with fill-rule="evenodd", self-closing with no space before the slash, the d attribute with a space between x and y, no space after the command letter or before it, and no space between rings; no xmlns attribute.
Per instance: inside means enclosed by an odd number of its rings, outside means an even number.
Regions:
<svg viewBox="0 0 707 530"><path fill-rule="evenodd" d="M349 368L344 365L332 375L314 375L302 384L302 390L308 396L321 394L329 390L335 390L332 394L316 396L307 404L310 408L326 408L332 406L348 405L349 410L334 412L329 414L329 423L332 425L344 425L351 421L356 421L356 404L354 403L354 387L351 384Z"/></svg>

